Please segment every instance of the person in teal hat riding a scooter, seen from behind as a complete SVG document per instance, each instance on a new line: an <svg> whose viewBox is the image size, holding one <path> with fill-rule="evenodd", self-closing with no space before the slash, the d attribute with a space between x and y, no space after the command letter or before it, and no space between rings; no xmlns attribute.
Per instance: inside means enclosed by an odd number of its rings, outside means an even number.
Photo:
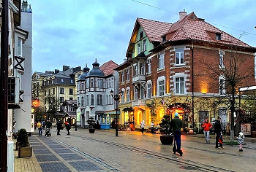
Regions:
<svg viewBox="0 0 256 172"><path fill-rule="evenodd" d="M170 128L173 128L174 139L177 144L176 152L179 155L183 155L181 150L181 127L182 127L182 120L178 117L178 113L175 112L173 120L170 121Z"/></svg>

